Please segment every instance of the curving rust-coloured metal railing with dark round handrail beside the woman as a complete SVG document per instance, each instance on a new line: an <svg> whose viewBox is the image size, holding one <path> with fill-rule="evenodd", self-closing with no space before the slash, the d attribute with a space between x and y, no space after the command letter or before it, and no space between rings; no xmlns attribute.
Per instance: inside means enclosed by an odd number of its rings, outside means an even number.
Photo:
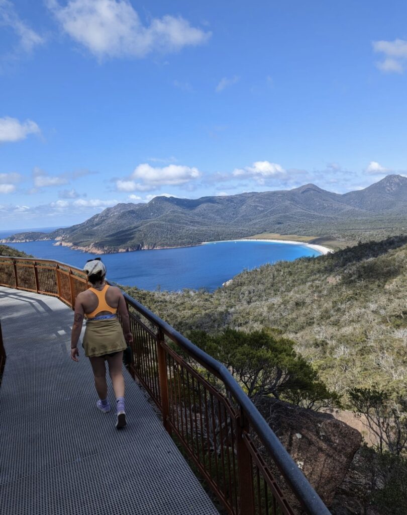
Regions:
<svg viewBox="0 0 407 515"><path fill-rule="evenodd" d="M0 257L0 285L59 297L70 307L87 288L77 268ZM128 368L163 414L230 515L329 515L267 422L224 365L135 299Z"/></svg>

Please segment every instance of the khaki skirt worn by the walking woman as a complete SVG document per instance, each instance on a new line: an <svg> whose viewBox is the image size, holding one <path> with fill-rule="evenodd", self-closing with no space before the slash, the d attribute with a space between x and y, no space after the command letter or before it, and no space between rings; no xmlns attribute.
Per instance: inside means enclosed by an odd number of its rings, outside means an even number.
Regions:
<svg viewBox="0 0 407 515"><path fill-rule="evenodd" d="M88 320L82 347L87 357L103 356L127 349L118 318Z"/></svg>

